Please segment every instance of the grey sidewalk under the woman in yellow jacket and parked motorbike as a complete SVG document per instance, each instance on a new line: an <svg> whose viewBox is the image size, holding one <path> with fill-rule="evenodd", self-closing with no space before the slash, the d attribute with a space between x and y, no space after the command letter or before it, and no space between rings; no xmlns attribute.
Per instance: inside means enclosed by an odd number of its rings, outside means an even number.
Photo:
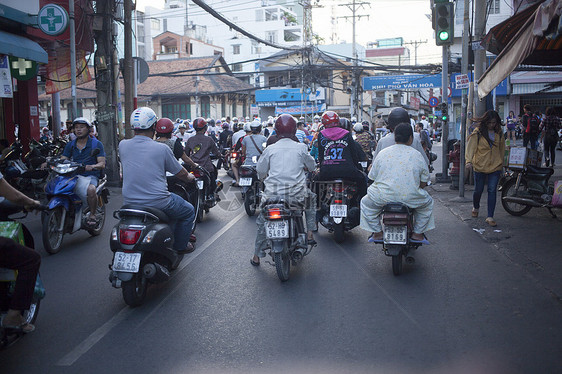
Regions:
<svg viewBox="0 0 562 374"><path fill-rule="evenodd" d="M557 151L557 159L562 162L561 151ZM555 167L550 180L562 180L562 165ZM498 225L490 227L484 221L487 215L486 189L480 201L480 216L472 218L474 186L465 185L465 201L459 198L458 190L451 190L449 186L434 184L428 187L428 191L461 222L472 228L475 235L491 243L553 297L562 300L562 209L553 210L557 218L552 218L546 208L533 208L526 215L515 217L504 210L498 193L494 214ZM451 234L451 242L454 242L454 233Z"/></svg>

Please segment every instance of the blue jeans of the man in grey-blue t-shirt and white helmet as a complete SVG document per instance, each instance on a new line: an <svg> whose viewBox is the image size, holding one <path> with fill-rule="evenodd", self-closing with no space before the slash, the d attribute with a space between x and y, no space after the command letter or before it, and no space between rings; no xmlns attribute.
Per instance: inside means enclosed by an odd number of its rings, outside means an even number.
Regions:
<svg viewBox="0 0 562 374"><path fill-rule="evenodd" d="M189 243L189 237L193 230L193 220L195 219L195 209L193 205L176 195L170 194L170 201L164 209L172 222L170 226L174 232L174 247L176 251L182 251Z"/></svg>

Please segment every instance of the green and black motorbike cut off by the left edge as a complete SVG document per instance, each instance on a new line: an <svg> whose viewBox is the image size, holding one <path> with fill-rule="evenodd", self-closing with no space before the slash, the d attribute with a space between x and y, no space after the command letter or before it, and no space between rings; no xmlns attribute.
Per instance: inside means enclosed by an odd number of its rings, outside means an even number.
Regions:
<svg viewBox="0 0 562 374"><path fill-rule="evenodd" d="M42 210L46 207L40 206L37 209ZM25 212L22 206L18 206L3 200L0 202L0 231L2 236L6 235L12 238L18 238L19 244L25 245L28 248L35 248L35 243L33 241L33 236L29 229L21 222L10 218L10 216ZM24 218L27 213L24 213ZM15 239L14 239L15 240ZM12 269L0 268L0 314L1 318L4 317L5 313L8 311L8 306L10 304L10 299L14 292L14 287L16 283L17 272ZM39 306L41 305L41 300L45 297L45 287L41 280L40 275L37 275L37 280L35 281L35 289L33 291L33 297L31 300L31 305L28 310L24 311L23 317L26 323L35 323L37 316L39 315ZM6 329L0 324L0 349L5 348L24 335L22 331Z"/></svg>

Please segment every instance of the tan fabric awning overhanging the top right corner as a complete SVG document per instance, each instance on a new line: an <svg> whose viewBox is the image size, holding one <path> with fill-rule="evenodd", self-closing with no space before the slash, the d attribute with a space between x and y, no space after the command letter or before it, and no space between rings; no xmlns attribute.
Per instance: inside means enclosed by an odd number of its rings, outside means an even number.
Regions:
<svg viewBox="0 0 562 374"><path fill-rule="evenodd" d="M494 26L484 39L486 49L499 55L478 80L479 98L488 95L521 63L561 64L562 0L547 0L531 10Z"/></svg>

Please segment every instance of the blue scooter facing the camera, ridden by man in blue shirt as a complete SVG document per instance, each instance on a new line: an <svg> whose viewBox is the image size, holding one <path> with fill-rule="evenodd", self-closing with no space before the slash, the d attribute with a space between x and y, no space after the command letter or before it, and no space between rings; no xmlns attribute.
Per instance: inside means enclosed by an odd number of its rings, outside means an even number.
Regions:
<svg viewBox="0 0 562 374"><path fill-rule="evenodd" d="M94 150L93 156L96 151ZM49 210L41 215L42 239L45 250L50 254L58 253L62 247L64 234L72 234L84 229L92 236L101 233L105 222L105 205L108 203L109 190L105 187L107 178L102 176L96 187L98 208L96 214L100 220L95 227L86 223L90 212L87 204L73 192L78 181L77 175L84 172L84 166L70 160L54 159L49 162L54 176L45 186L49 199Z"/></svg>

